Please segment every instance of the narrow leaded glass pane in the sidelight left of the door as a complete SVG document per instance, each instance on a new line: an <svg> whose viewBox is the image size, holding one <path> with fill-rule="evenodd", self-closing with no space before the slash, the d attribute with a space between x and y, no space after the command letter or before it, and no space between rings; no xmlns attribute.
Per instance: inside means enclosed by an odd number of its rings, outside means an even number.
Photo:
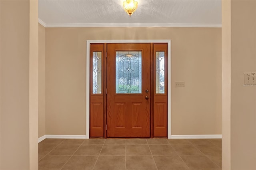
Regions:
<svg viewBox="0 0 256 170"><path fill-rule="evenodd" d="M101 94L102 93L102 77L101 77L101 68L102 68L102 52L93 52L93 61L92 61L92 94Z"/></svg>

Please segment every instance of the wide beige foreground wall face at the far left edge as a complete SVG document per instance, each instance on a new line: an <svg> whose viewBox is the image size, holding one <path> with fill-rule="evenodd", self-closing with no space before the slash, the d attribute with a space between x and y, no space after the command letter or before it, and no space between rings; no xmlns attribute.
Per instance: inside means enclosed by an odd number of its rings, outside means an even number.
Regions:
<svg viewBox="0 0 256 170"><path fill-rule="evenodd" d="M29 1L0 3L0 169L29 169Z"/></svg>

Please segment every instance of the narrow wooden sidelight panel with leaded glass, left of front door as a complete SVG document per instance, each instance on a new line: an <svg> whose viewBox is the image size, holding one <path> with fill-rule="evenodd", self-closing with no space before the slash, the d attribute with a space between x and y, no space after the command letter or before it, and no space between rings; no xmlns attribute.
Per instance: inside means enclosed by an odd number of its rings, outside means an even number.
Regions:
<svg viewBox="0 0 256 170"><path fill-rule="evenodd" d="M104 137L104 44L90 44L90 137Z"/></svg>

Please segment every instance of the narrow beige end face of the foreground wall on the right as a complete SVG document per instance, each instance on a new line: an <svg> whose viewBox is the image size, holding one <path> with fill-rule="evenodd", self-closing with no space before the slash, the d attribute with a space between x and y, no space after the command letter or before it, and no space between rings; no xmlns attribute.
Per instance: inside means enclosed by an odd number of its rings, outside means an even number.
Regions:
<svg viewBox="0 0 256 170"><path fill-rule="evenodd" d="M222 0L222 169L230 170L231 1Z"/></svg>

